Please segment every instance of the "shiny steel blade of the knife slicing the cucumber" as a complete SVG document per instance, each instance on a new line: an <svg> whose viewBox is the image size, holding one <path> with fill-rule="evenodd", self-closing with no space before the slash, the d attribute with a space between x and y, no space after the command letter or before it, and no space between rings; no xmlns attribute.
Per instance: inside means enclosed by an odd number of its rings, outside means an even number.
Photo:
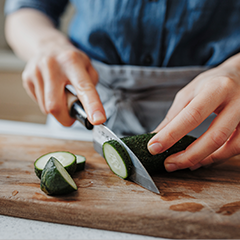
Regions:
<svg viewBox="0 0 240 240"><path fill-rule="evenodd" d="M118 141L127 150L132 160L133 169L131 175L129 176L129 179L152 192L160 194L151 176L148 174L147 170L144 168L144 166L142 165L140 160L136 157L136 155L132 152L132 150L119 137L117 137L116 134L114 134L109 128L107 128L103 124L94 126L93 128L94 149L101 156L103 156L102 151L103 143L112 139Z"/></svg>

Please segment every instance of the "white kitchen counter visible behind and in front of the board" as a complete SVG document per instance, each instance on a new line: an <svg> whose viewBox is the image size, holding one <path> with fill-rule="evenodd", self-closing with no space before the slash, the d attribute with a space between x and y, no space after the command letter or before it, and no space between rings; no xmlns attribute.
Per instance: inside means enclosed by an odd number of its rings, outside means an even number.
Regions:
<svg viewBox="0 0 240 240"><path fill-rule="evenodd" d="M0 134L92 141L91 131L0 120ZM0 239L162 239L0 215Z"/></svg>

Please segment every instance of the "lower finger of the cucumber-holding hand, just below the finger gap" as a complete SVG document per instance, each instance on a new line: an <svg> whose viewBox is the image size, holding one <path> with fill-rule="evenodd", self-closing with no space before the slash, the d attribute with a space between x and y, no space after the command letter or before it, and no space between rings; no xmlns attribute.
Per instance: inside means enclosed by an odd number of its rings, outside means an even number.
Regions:
<svg viewBox="0 0 240 240"><path fill-rule="evenodd" d="M196 167L203 159L219 149L231 136L239 123L238 114L233 114L234 107L225 107L214 119L210 128L185 151L170 156L165 160L167 171ZM232 114L232 116L231 116ZM231 116L231 118L229 118ZM197 165L199 166L199 165Z"/></svg>

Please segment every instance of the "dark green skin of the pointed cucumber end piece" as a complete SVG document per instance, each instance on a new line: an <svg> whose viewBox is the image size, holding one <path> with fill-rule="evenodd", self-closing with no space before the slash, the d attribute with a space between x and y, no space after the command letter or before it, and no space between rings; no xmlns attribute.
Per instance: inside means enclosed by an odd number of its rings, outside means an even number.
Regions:
<svg viewBox="0 0 240 240"><path fill-rule="evenodd" d="M40 184L41 190L48 195L63 195L76 191L77 189L69 186L62 175L58 172L54 160L58 161L56 158L51 157L42 171Z"/></svg>

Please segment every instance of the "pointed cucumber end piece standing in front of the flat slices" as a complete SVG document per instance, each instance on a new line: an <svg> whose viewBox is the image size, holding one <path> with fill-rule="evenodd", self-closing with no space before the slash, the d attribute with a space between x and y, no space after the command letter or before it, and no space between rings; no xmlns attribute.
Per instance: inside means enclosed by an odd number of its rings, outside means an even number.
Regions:
<svg viewBox="0 0 240 240"><path fill-rule="evenodd" d="M77 191L77 185L63 165L50 157L41 175L41 190L48 195L61 195Z"/></svg>

